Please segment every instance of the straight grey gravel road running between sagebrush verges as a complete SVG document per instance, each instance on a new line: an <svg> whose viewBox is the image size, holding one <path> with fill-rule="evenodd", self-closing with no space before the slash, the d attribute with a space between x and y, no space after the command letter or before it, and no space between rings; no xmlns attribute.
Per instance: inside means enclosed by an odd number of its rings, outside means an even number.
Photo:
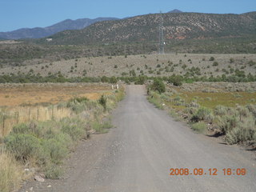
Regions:
<svg viewBox="0 0 256 192"><path fill-rule="evenodd" d="M54 192L256 191L254 153L194 134L147 102L143 86L128 86L126 92L113 114L116 128L82 142L68 160L66 178L28 182L21 191L31 186ZM170 168L191 173L203 168L206 174L170 176ZM218 175L209 175L210 168ZM224 168L247 173L227 176Z"/></svg>

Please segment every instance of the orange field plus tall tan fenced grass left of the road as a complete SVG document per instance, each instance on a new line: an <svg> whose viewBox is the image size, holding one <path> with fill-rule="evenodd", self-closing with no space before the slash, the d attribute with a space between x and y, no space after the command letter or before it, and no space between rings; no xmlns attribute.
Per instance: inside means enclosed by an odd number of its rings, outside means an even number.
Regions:
<svg viewBox="0 0 256 192"><path fill-rule="evenodd" d="M70 117L70 109L58 105L70 98L98 100L112 89L107 84L12 84L0 86L0 136L22 122L59 120Z"/></svg>

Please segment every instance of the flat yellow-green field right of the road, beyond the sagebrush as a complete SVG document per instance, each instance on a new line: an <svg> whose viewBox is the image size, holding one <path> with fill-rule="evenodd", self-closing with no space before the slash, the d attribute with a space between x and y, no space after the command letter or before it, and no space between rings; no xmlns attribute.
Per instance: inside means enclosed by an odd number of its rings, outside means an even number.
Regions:
<svg viewBox="0 0 256 192"><path fill-rule="evenodd" d="M238 83L225 82L212 83L211 85L209 83L202 83L201 86L194 86L194 84L199 83L184 84L182 87L172 86L171 89L174 91L170 98L186 103L197 102L200 106L210 109L214 109L218 105L234 107L237 105L256 104L256 92L254 90L256 84L252 82L240 83L240 85ZM231 87L236 85L236 88L230 91L227 85ZM188 87L190 87L190 90ZM244 87L247 87L247 90ZM185 106L174 107L182 108Z"/></svg>

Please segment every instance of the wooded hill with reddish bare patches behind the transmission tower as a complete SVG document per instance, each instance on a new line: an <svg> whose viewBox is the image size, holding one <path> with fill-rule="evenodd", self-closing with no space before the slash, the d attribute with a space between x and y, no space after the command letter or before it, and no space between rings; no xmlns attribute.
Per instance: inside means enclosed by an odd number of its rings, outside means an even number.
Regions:
<svg viewBox="0 0 256 192"><path fill-rule="evenodd" d="M166 42L171 39L231 38L256 35L256 12L247 14L162 14ZM38 43L79 45L112 42L158 42L159 14L94 23L82 30L65 30Z"/></svg>

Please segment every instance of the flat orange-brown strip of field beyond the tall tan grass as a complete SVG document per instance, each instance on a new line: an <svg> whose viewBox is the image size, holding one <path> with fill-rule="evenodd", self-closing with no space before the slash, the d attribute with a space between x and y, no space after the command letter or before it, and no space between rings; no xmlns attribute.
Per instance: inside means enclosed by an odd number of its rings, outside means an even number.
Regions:
<svg viewBox="0 0 256 192"><path fill-rule="evenodd" d="M74 97L97 100L110 91L108 85L87 83L9 84L0 86L0 106L56 104Z"/></svg>

